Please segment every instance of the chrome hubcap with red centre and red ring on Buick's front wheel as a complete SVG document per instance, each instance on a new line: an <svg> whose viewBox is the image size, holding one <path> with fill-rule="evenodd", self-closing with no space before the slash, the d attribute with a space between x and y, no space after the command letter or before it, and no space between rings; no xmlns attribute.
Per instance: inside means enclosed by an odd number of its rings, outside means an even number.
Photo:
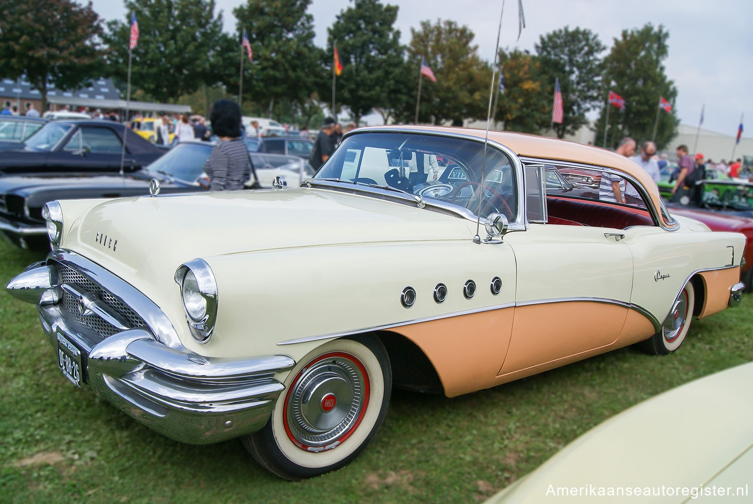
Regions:
<svg viewBox="0 0 753 504"><path fill-rule="evenodd" d="M306 451L337 446L360 422L367 404L368 376L346 353L319 357L296 377L285 400L285 428Z"/></svg>

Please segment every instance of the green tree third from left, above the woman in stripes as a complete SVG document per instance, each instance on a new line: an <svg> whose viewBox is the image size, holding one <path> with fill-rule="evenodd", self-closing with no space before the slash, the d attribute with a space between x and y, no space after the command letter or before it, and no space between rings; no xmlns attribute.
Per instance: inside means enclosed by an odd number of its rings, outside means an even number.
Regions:
<svg viewBox="0 0 753 504"><path fill-rule="evenodd" d="M255 115L270 108L284 112L306 102L325 80L325 54L314 45L314 21L306 10L311 0L246 0L233 9L238 20L234 37L238 55L245 28L254 62L244 63L243 104ZM245 58L245 50L243 52ZM228 89L238 89L239 60L224 77ZM271 106L270 106L271 105Z"/></svg>

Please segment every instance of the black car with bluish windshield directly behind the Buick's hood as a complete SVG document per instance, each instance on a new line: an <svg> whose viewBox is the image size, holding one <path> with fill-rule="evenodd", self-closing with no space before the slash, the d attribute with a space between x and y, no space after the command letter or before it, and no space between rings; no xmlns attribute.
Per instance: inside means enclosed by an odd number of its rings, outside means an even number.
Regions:
<svg viewBox="0 0 753 504"><path fill-rule="evenodd" d="M211 142L181 142L144 170L123 176L102 172L0 176L0 237L22 249L48 249L41 212L53 200L145 196L152 179L160 182L160 194L206 191L203 166L210 151ZM297 187L314 174L300 157L257 152L250 156L262 188L271 188L276 176Z"/></svg>

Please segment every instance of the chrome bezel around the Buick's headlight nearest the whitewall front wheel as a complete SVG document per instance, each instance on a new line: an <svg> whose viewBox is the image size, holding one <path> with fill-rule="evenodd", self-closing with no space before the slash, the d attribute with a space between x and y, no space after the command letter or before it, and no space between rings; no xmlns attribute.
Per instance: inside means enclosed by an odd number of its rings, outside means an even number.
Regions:
<svg viewBox="0 0 753 504"><path fill-rule="evenodd" d="M206 309L202 316L197 316L195 313L192 314L191 310L186 306L185 280L189 272L191 272L198 286L198 294L201 295L203 301L206 303ZM181 304L183 304L183 312L185 313L191 336L199 343L207 343L209 338L212 338L212 334L215 331L215 322L217 322L218 298L215 273L212 273L212 268L209 267L206 261L197 258L193 261L184 262L175 270L175 283L181 288Z"/></svg>

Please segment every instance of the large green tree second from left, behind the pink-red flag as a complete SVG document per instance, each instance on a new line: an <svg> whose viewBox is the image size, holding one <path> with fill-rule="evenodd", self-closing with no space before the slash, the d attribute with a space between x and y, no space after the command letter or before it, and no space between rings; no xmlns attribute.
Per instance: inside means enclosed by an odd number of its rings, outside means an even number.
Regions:
<svg viewBox="0 0 753 504"><path fill-rule="evenodd" d="M215 84L212 58L224 49L222 16L214 0L127 0L127 22L107 24L108 69L126 81L130 13L139 23L133 48L131 82L160 102L175 102L202 84Z"/></svg>

